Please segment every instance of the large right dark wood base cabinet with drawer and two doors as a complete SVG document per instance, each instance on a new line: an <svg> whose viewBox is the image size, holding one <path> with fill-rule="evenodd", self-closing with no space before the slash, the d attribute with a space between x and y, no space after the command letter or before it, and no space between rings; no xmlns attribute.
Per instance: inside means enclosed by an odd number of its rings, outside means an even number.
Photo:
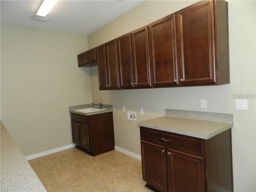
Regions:
<svg viewBox="0 0 256 192"><path fill-rule="evenodd" d="M231 192L231 129L208 140L140 127L142 176L159 192Z"/></svg>

